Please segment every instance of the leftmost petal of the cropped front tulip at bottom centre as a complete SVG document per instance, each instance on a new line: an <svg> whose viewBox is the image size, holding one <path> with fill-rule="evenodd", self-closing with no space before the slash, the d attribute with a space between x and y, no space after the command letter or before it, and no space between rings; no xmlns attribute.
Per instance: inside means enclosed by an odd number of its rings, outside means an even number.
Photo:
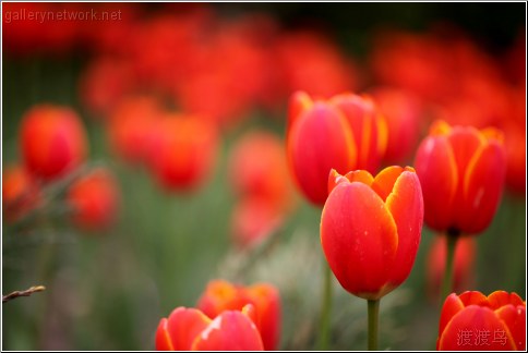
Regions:
<svg viewBox="0 0 528 353"><path fill-rule="evenodd" d="M189 351L211 319L195 308L178 307L168 318L167 332L176 351Z"/></svg>

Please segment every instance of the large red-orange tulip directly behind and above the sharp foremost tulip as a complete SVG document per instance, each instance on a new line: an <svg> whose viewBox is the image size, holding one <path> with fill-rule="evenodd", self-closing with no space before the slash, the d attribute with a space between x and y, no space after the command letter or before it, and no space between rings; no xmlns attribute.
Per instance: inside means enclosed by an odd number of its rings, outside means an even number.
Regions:
<svg viewBox="0 0 528 353"><path fill-rule="evenodd" d="M323 205L331 169L375 172L386 147L386 125L372 99L341 94L313 101L305 93L290 100L287 129L290 168L304 195Z"/></svg>

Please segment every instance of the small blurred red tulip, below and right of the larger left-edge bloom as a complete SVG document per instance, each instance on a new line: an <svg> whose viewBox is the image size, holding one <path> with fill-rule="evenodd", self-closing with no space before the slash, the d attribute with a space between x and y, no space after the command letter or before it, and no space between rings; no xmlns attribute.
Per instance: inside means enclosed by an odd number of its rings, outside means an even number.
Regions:
<svg viewBox="0 0 528 353"><path fill-rule="evenodd" d="M113 176L107 170L98 169L74 182L67 199L73 207L76 224L98 230L116 220L120 195Z"/></svg>

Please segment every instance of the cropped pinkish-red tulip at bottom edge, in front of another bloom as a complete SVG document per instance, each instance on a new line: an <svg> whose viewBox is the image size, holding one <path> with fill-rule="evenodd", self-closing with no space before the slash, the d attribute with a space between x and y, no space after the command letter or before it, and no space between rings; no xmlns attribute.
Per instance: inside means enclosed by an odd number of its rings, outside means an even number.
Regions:
<svg viewBox="0 0 528 353"><path fill-rule="evenodd" d="M195 308L178 307L159 321L156 351L262 351L254 308L225 311L211 319Z"/></svg>

